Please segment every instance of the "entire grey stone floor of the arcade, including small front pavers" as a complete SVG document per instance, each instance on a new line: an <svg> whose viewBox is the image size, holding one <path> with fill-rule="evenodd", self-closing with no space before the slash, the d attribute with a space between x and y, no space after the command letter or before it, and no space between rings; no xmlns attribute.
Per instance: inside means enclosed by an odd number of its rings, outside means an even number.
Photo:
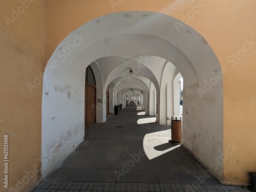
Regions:
<svg viewBox="0 0 256 192"><path fill-rule="evenodd" d="M33 192L249 191L223 186L182 145L170 127L129 105L85 131L84 141Z"/></svg>

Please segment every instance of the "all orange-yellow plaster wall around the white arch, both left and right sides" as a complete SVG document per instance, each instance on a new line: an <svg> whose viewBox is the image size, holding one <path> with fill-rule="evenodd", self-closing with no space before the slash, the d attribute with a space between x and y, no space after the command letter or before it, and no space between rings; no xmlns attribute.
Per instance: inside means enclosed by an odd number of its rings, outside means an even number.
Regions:
<svg viewBox="0 0 256 192"><path fill-rule="evenodd" d="M44 1L30 3L8 27L4 17L11 18L11 9L17 10L20 2L0 2L0 141L3 143L3 135L9 134L9 187L18 186L24 191L39 178L40 173L34 171L25 184L27 175L34 168L40 169L36 166L40 166L41 153L42 85L33 81L63 38L91 19L108 13L154 11L182 20L183 14L191 13L190 6L195 5L201 5L200 11L189 19L188 25L209 42L224 72L223 150L228 158L224 161L224 181L249 181L248 172L256 171L256 45L245 46L247 51L237 60L228 62L227 58L244 49L246 39L256 42L256 1L46 0L46 24ZM19 11L23 12L22 8ZM31 87L32 93L27 83L36 87ZM233 142L239 148L230 151L228 143Z"/></svg>

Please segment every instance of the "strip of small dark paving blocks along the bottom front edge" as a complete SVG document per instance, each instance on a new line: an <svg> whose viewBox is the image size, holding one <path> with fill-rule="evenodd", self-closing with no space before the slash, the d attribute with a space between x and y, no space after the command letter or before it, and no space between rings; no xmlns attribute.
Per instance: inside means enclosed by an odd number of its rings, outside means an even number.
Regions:
<svg viewBox="0 0 256 192"><path fill-rule="evenodd" d="M189 185L167 183L104 183L73 181L42 181L32 192L86 192L86 191L173 191L173 192L240 192L246 187L229 185Z"/></svg>

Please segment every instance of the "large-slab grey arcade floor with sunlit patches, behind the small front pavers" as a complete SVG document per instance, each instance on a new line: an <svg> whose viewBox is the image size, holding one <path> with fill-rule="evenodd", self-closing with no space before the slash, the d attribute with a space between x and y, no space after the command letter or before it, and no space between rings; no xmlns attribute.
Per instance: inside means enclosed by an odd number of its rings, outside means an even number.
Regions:
<svg viewBox="0 0 256 192"><path fill-rule="evenodd" d="M47 180L220 185L182 145L168 142L170 127L153 120L133 103L95 123Z"/></svg>

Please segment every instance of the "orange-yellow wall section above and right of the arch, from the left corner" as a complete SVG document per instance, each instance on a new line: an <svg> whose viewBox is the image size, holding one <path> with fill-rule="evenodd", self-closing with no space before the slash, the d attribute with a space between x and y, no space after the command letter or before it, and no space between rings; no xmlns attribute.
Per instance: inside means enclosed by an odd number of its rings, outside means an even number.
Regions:
<svg viewBox="0 0 256 192"><path fill-rule="evenodd" d="M246 39L256 42L256 1L79 0L74 3L46 0L46 5L45 65L69 33L98 16L113 12L160 12L176 17L197 30L208 41L224 69L223 179L231 184L248 183L248 172L256 171L253 118L256 109L256 44L245 46L245 52L240 49L243 49ZM200 10L195 10L195 6ZM230 56L239 50L243 57L233 60ZM236 147L232 150L230 145ZM219 158L223 157L216 158L215 164L218 164Z"/></svg>

